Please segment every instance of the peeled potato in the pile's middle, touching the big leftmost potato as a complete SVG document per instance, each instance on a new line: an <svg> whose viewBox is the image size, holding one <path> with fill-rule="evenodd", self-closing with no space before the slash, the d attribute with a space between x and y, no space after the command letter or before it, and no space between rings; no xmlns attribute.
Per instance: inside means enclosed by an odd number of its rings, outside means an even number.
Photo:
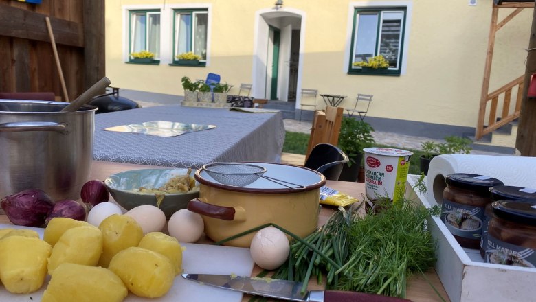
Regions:
<svg viewBox="0 0 536 302"><path fill-rule="evenodd" d="M63 263L96 266L102 254L102 232L97 227L87 225L68 229L52 248L48 259L48 274Z"/></svg>

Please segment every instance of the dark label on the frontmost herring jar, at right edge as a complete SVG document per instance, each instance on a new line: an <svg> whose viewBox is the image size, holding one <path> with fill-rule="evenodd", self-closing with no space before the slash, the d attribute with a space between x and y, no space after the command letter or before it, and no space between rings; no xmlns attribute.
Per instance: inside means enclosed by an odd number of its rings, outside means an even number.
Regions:
<svg viewBox="0 0 536 302"><path fill-rule="evenodd" d="M488 233L484 261L493 264L534 268L536 265L536 253L532 248L509 244Z"/></svg>

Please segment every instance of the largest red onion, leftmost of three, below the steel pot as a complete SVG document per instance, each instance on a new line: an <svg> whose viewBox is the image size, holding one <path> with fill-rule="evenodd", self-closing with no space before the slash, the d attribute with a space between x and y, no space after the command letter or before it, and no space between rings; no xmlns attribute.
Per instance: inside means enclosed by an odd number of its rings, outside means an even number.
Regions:
<svg viewBox="0 0 536 302"><path fill-rule="evenodd" d="M12 224L26 227L41 227L54 207L52 198L40 189L27 189L5 196L0 204Z"/></svg>

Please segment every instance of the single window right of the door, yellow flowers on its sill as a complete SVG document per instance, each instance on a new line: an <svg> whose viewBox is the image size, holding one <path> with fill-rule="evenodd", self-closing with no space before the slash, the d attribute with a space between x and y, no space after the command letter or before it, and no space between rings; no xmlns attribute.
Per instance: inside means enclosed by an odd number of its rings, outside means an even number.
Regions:
<svg viewBox="0 0 536 302"><path fill-rule="evenodd" d="M376 73L355 65L382 55L389 63L383 73L399 75L403 57L406 8L355 8L348 73Z"/></svg>

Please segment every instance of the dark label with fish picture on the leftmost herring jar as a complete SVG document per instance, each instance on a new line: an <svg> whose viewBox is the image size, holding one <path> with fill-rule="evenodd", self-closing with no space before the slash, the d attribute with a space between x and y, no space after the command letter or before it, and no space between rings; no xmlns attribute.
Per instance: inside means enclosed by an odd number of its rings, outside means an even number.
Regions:
<svg viewBox="0 0 536 302"><path fill-rule="evenodd" d="M451 202L443 198L441 220L443 220L452 235L480 240L483 216L483 207L460 205L457 202Z"/></svg>

